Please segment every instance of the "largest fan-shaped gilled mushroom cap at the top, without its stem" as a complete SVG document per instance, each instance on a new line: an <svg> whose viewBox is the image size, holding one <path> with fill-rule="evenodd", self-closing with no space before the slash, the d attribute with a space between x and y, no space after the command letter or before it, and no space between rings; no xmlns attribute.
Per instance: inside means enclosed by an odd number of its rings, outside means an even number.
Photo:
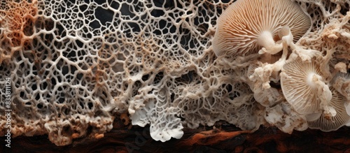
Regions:
<svg viewBox="0 0 350 153"><path fill-rule="evenodd" d="M268 31L279 40L279 29L288 26L293 41L311 27L311 18L290 0L237 0L217 20L213 50L216 56L248 55L258 52L260 35Z"/></svg>

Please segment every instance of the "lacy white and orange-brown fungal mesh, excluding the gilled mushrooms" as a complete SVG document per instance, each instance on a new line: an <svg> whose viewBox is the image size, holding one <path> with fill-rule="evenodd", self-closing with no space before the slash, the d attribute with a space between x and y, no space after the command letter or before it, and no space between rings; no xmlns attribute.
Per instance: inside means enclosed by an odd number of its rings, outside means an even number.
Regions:
<svg viewBox="0 0 350 153"><path fill-rule="evenodd" d="M211 50L231 2L1 0L0 113L10 78L13 136L47 133L56 145L110 131L125 112L162 141L219 120L257 129L265 108L249 88L253 61L218 61ZM300 44L346 57L349 1L298 2L314 24Z"/></svg>

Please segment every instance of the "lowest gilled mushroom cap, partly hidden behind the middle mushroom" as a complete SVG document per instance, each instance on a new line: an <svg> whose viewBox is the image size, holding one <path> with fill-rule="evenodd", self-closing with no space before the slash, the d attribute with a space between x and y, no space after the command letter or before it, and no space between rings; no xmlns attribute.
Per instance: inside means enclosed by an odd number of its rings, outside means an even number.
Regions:
<svg viewBox="0 0 350 153"><path fill-rule="evenodd" d="M320 129L321 131L335 131L340 127L350 122L350 116L346 113L345 109L345 97L339 92L332 90L332 99L330 100L330 106L337 111L337 115L327 119L322 113L321 117L313 122L308 122L310 129Z"/></svg>

